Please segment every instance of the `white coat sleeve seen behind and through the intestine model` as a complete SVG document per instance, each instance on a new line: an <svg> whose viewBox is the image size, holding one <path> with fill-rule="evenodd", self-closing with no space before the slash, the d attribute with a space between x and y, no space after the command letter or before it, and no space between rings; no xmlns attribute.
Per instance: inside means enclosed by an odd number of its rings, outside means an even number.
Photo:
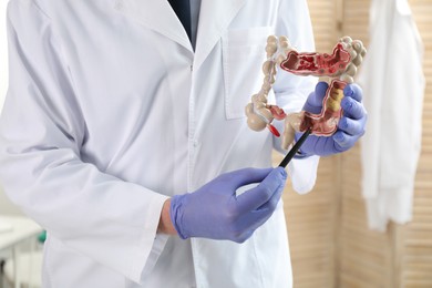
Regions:
<svg viewBox="0 0 432 288"><path fill-rule="evenodd" d="M280 1L277 35L287 35L291 45L298 51L315 51L313 32L307 2ZM312 76L298 76L279 69L274 84L276 103L286 113L298 112L302 109L307 96L315 89L317 79ZM284 131L284 123L276 122L276 127ZM281 138L274 137L274 146L281 150ZM288 165L288 173L292 182L292 188L300 193L307 193L313 188L317 179L319 156L294 158Z"/></svg>

